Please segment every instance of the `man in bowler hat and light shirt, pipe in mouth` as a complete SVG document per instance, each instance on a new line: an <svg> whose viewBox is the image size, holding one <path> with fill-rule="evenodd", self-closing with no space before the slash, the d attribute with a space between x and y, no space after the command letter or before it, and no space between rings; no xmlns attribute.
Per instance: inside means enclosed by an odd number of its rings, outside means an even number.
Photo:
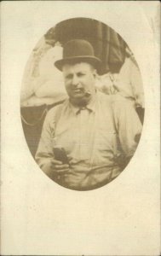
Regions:
<svg viewBox="0 0 161 256"><path fill-rule="evenodd" d="M43 124L36 160L49 177L76 190L99 188L117 177L135 153L141 123L121 96L95 90L101 61L85 40L66 43L55 66L63 73L69 99L52 108ZM64 148L68 164L56 160Z"/></svg>

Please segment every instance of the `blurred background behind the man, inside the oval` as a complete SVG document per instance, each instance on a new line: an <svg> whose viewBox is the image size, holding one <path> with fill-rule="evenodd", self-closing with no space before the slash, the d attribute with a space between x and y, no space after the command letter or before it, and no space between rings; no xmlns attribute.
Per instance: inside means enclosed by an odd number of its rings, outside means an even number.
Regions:
<svg viewBox="0 0 161 256"><path fill-rule="evenodd" d="M102 61L95 87L103 93L120 94L134 106L141 122L144 93L141 73L128 45L117 32L98 20L75 18L61 21L39 40L26 63L20 93L20 113L26 143L34 156L43 120L50 108L67 98L62 73L55 67L63 45L79 38L89 41Z"/></svg>

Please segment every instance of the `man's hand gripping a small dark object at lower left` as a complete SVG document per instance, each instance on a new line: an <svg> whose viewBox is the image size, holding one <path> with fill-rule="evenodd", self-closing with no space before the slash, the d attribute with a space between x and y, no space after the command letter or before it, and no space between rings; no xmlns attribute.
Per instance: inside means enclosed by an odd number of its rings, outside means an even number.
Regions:
<svg viewBox="0 0 161 256"><path fill-rule="evenodd" d="M64 165L61 161L52 159L48 164L43 166L43 172L49 175L49 177L59 180L69 172L69 165Z"/></svg>

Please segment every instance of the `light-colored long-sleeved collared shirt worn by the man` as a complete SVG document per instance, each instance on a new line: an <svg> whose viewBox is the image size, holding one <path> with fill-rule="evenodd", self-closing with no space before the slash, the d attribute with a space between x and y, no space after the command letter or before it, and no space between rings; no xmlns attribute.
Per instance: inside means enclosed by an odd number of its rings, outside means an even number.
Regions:
<svg viewBox="0 0 161 256"><path fill-rule="evenodd" d="M129 101L97 92L82 110L69 100L49 110L36 160L43 170L55 158L53 148L64 148L70 172L55 181L69 189L93 189L123 171L120 160L135 153L140 134L141 122Z"/></svg>

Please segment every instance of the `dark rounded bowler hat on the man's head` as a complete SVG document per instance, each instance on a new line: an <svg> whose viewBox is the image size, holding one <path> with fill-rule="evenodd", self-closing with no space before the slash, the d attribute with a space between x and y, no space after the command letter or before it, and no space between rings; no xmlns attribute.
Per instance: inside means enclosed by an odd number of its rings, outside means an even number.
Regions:
<svg viewBox="0 0 161 256"><path fill-rule="evenodd" d="M55 61L55 67L61 71L63 65L78 62L87 62L96 69L98 69L101 64L101 60L95 57L92 45L83 39L68 41L63 48L63 58L59 61Z"/></svg>

